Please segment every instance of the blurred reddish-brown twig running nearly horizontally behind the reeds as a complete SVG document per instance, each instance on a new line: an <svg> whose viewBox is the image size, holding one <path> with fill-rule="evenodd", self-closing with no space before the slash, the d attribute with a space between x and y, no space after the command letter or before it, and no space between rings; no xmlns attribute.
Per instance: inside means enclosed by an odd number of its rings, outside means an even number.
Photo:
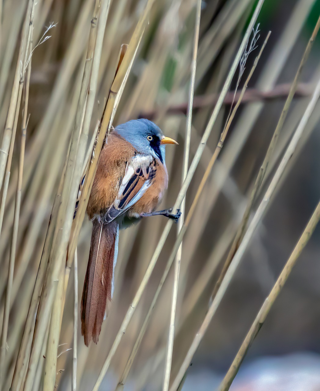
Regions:
<svg viewBox="0 0 320 391"><path fill-rule="evenodd" d="M273 88L273 90L270 91L260 91L257 90L257 88L247 88L241 103L243 104L248 102L256 102L258 100L284 99L288 96L290 87L291 87L291 83L283 83L283 84L278 84L277 86L275 86L275 88ZM294 96L295 98L307 97L311 95L313 89L314 89L313 83L299 83ZM233 101L239 100L240 93L241 93L240 91L236 92L235 95L234 91L227 92L227 95L223 103L231 104ZM218 98L219 98L219 94L199 95L197 97L194 97L192 108L198 109L204 106L214 105L217 103ZM179 113L186 114L187 107L188 107L187 102L170 106L167 109L167 114L179 114ZM145 111L143 113L140 113L138 118L147 118L152 120L158 115L159 111L160 109Z"/></svg>

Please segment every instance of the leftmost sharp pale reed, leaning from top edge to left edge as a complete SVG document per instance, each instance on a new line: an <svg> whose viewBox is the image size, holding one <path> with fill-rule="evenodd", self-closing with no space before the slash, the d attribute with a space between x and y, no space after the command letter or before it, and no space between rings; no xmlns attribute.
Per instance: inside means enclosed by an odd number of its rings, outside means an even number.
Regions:
<svg viewBox="0 0 320 391"><path fill-rule="evenodd" d="M14 142L15 135L14 133L14 121L16 117L16 111L19 112L21 94L20 90L22 86L20 85L21 79L24 81L24 73L26 69L27 55L29 53L29 43L31 37L31 30L33 27L33 15L34 15L34 0L29 0L27 7L27 13L25 22L23 24L21 43L19 49L19 56L17 60L16 72L14 75L14 84L11 93L11 99L9 104L9 111L7 114L7 120L5 123L4 135L2 138L2 144L0 149L0 189L2 188L2 183L4 179L5 167L7 166L7 160L9 157L10 145ZM20 99L19 99L20 96ZM10 162L11 166L11 162ZM7 170L9 171L9 170ZM3 195L2 195L3 197Z"/></svg>

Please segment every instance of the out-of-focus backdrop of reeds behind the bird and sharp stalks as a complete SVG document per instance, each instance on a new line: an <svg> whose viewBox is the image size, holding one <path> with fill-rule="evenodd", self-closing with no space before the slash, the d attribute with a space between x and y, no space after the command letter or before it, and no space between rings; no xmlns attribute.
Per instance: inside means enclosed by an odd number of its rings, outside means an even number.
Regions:
<svg viewBox="0 0 320 391"><path fill-rule="evenodd" d="M27 1L4 0L2 3L1 131L7 116ZM256 3L252 0L207 0L201 4L190 161ZM46 31L45 26L48 27L50 23L53 26L44 36L50 38L36 47L32 55L28 106L30 118L5 361L6 381L3 389L6 390L11 384L52 204L74 124L93 4L93 0L38 0L35 8L33 47L41 40ZM129 43L144 4L145 0L111 2L89 139L102 115L120 45ZM265 0L262 6L257 20L260 30L258 47L248 57L240 89L269 30L270 39L183 240L172 376L177 373L205 316L219 271L241 221L290 84L319 15L320 0ZM173 206L181 187L195 16L196 2L193 0L154 2L113 121L113 126L116 126L133 118L149 118L161 127L165 135L179 142L179 147L167 147L166 150L169 188L160 209ZM320 77L319 49L320 37L316 39L303 69L297 94L254 209L259 205ZM225 125L237 77L238 71L187 192L187 211ZM192 359L182 390L217 389L318 203L319 120L318 102L267 213L255 231L236 275ZM0 322L13 227L21 118L17 129L0 237ZM79 390L92 389L164 225L163 217L154 217L120 232L115 295L97 346L91 344L86 348L80 328L78 330ZM90 248L91 227L92 223L85 217L78 243L79 302ZM146 292L111 362L102 390L115 390L121 378L175 238L176 226L171 230ZM320 390L319 239L320 228L316 229L302 252L244 359L231 390ZM56 389L61 391L71 389L73 273L72 268L59 342ZM156 303L125 390L153 391L162 387L172 287L173 268ZM41 365L35 379L35 390L41 387Z"/></svg>

